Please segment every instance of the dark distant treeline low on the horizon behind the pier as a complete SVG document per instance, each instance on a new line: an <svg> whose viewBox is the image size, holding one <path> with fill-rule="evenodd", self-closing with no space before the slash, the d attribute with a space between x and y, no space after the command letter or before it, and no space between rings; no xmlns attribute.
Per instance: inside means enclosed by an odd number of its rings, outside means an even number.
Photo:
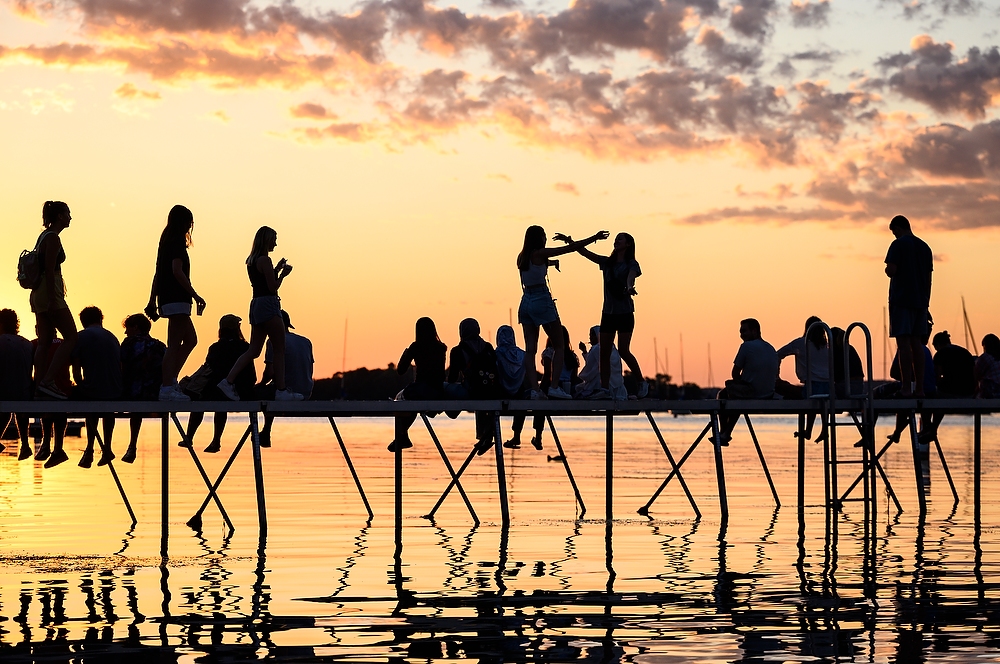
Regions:
<svg viewBox="0 0 1000 664"><path fill-rule="evenodd" d="M396 373L396 365L389 363L385 369L354 369L337 372L331 378L320 378L313 386L312 399L317 401L349 400L373 401L392 399L413 380L413 369L403 375ZM651 384L650 397L654 399L714 399L717 388L701 388L695 383L675 385L667 374L647 378ZM635 392L632 376L625 372L625 384Z"/></svg>

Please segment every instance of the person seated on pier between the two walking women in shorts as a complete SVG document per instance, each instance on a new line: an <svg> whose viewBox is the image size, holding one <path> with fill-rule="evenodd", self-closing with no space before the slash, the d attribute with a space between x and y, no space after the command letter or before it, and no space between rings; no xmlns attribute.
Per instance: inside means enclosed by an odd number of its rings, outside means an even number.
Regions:
<svg viewBox="0 0 1000 664"><path fill-rule="evenodd" d="M190 379L181 381L184 392L196 401L226 401L228 396L219 389L220 381L226 380L227 374L232 374L236 361L245 356L250 344L243 337L240 329L242 319L235 314L226 314L219 319L219 340L208 347L208 356L198 371ZM257 382L257 370L253 362L248 363L236 374L233 388L236 395L242 399L254 398L254 384ZM179 447L190 447L194 443L194 435L205 419L205 413L191 413L188 419L187 436L177 443ZM213 420L214 435L205 451L214 454L222 449L222 434L226 431L229 414L218 412Z"/></svg>

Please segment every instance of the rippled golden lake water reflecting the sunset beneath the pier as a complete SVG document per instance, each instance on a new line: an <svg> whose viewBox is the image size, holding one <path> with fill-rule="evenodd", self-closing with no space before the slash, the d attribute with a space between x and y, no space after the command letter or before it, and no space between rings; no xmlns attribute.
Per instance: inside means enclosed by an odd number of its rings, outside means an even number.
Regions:
<svg viewBox="0 0 1000 664"><path fill-rule="evenodd" d="M705 421L658 418L675 457ZM471 445L471 417L433 421L452 462ZM972 506L971 418L949 417L941 440L961 502L955 508L936 456L920 523L908 448L885 469L905 508L879 496L877 585L862 574L861 506L825 537L822 448L808 443L806 529L799 537L794 420L758 417L782 507L775 509L745 428L725 450L730 522L721 533L711 448L684 476L703 518L676 482L650 512L668 472L645 418L615 422L615 520L604 515L604 420L556 421L587 505L555 449L507 451L512 524L499 526L496 465L477 458L464 485L478 528L457 493L436 522L420 517L446 485L425 430L406 453L403 547L394 558L388 420L338 422L375 518L367 514L327 422L275 425L263 451L269 533L258 539L249 447L220 489L236 525L205 512L184 525L205 486L171 431L169 556L160 557L160 433L147 422L140 457L117 464L139 523L106 469L71 463L43 471L0 455L0 660L93 661L994 661L1000 660L1000 418L984 418L983 526ZM504 421L505 434L509 420ZM214 478L242 429L231 418L224 452L201 454ZM742 427L742 424L741 424ZM530 420L529 420L530 428ZM880 427L881 429L881 427ZM127 424L119 423L124 450ZM526 430L527 433L527 430ZM884 439L885 432L880 433ZM211 438L209 422L196 449ZM842 434L841 454L854 454ZM845 468L842 482L850 471ZM977 550L978 547L978 550ZM872 581L869 579L868 581Z"/></svg>

